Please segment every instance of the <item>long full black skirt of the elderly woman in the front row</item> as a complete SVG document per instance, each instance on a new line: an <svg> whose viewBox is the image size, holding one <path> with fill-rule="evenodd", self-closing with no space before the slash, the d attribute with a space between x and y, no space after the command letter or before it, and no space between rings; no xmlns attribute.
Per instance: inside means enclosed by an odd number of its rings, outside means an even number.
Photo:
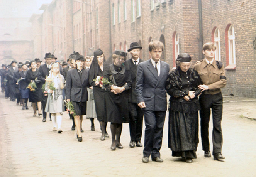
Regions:
<svg viewBox="0 0 256 177"><path fill-rule="evenodd" d="M198 111L169 112L168 147L175 157L196 158L198 145Z"/></svg>

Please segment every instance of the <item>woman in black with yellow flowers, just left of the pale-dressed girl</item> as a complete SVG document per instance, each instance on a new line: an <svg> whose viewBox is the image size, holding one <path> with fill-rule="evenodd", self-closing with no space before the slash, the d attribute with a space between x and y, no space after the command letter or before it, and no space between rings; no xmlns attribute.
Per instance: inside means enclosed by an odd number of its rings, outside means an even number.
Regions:
<svg viewBox="0 0 256 177"><path fill-rule="evenodd" d="M29 62L31 69L27 71L25 76L26 81L29 83L29 102L32 102L32 107L34 110L33 117L36 116L36 104L38 108L38 116L41 116L41 101L42 101L42 82L38 80L39 70L36 68L36 61Z"/></svg>

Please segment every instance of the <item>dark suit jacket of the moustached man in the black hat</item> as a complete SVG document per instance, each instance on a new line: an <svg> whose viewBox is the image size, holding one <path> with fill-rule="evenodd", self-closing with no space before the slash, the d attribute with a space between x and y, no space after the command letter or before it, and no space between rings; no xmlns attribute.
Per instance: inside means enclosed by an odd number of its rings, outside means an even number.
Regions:
<svg viewBox="0 0 256 177"><path fill-rule="evenodd" d="M139 63L143 62L144 60L139 59ZM132 79L132 87L128 90L129 97L128 101L132 103L137 103L137 95L135 92L135 84L136 84L136 74L137 74L137 67L135 66L134 62L132 62L132 59L125 61L125 65L128 64L130 68L130 74Z"/></svg>

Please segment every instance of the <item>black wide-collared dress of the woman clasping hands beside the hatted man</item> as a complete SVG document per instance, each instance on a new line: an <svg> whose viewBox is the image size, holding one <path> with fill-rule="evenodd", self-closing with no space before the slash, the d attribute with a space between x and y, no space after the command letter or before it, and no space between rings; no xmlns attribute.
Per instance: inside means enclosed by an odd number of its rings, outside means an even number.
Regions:
<svg viewBox="0 0 256 177"><path fill-rule="evenodd" d="M124 65L115 66L110 64L104 69L104 78L109 79L115 86L124 87L125 91L120 94L110 92L111 85L106 92L107 121L111 123L128 123L128 89L132 85L129 68Z"/></svg>

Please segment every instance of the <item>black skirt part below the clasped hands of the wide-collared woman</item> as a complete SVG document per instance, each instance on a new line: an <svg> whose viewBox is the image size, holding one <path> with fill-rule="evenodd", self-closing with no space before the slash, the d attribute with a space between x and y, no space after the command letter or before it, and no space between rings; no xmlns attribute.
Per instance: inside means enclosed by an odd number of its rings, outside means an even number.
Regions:
<svg viewBox="0 0 256 177"><path fill-rule="evenodd" d="M106 92L106 110L107 121L111 123L128 123L128 92L114 94L110 91Z"/></svg>

